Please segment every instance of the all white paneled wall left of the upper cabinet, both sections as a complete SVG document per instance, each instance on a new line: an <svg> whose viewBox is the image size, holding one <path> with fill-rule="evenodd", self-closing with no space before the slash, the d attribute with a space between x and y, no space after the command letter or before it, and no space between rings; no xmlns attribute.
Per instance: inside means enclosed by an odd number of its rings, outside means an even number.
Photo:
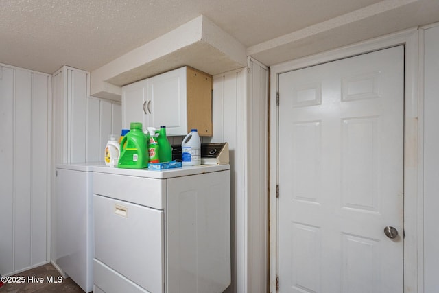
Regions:
<svg viewBox="0 0 439 293"><path fill-rule="evenodd" d="M0 274L50 259L54 165L104 161L108 134L120 134L120 103L88 87L79 69L0 64Z"/></svg>

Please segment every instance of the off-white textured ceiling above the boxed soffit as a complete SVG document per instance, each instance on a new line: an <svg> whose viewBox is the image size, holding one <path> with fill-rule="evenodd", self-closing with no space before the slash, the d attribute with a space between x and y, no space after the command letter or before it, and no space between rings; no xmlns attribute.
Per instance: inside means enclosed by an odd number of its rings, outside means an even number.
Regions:
<svg viewBox="0 0 439 293"><path fill-rule="evenodd" d="M246 47L379 2L437 0L0 0L0 63L93 71L204 14ZM439 20L439 13L438 19Z"/></svg>

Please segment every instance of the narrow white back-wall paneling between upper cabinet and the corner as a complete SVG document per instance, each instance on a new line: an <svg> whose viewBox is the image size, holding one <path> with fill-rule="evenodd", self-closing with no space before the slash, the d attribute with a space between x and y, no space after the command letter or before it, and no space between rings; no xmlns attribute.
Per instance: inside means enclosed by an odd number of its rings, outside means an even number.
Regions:
<svg viewBox="0 0 439 293"><path fill-rule="evenodd" d="M230 150L232 284L226 292L245 291L245 125L246 70L213 77L213 136L203 143L227 141Z"/></svg>

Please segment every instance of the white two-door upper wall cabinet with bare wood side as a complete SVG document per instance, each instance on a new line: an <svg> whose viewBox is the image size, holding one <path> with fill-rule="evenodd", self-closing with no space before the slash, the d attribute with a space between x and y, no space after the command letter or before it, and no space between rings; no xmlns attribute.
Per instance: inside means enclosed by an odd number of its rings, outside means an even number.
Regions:
<svg viewBox="0 0 439 293"><path fill-rule="evenodd" d="M196 128L211 137L211 75L181 67L122 87L122 124L142 122L143 128L166 126L169 136L186 135Z"/></svg>

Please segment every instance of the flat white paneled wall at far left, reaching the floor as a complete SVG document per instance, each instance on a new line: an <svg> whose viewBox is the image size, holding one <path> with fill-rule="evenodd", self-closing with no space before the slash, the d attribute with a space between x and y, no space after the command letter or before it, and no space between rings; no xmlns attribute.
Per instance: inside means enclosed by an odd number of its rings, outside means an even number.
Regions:
<svg viewBox="0 0 439 293"><path fill-rule="evenodd" d="M47 263L51 76L0 64L0 274Z"/></svg>

